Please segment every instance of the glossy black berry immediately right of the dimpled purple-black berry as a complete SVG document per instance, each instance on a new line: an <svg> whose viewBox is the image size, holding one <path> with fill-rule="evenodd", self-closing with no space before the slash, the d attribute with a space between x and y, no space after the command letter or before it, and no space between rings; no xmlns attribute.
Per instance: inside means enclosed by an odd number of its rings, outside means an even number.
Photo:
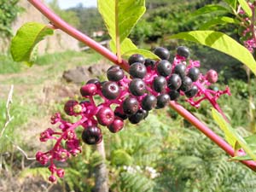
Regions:
<svg viewBox="0 0 256 192"><path fill-rule="evenodd" d="M129 84L129 90L133 96L143 96L146 92L146 84L142 79L132 79Z"/></svg>

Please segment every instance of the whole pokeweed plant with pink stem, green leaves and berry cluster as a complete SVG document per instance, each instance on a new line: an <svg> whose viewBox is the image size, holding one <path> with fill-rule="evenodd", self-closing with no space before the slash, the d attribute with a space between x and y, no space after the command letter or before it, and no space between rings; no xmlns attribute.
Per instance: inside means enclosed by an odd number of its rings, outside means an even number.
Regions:
<svg viewBox="0 0 256 192"><path fill-rule="evenodd" d="M184 46L177 48L175 58L171 62L169 50L160 47L151 53L137 49L131 39L127 38L146 10L144 0L98 0L99 12L111 37L112 52L69 26L40 1L29 2L49 19L50 25L35 22L20 27L11 44L11 54L15 61L25 61L32 66L34 46L47 35L52 35L55 29L61 29L118 65L108 69L108 81L90 79L84 84L80 88L82 101L69 100L65 103L65 113L79 117L77 122L61 119L61 114L55 113L50 123L56 125L57 129L48 128L40 134L41 142L55 141L54 147L49 151L39 151L36 154L38 162L49 165L50 182L55 182L55 176L63 177L65 173L63 169L55 166L55 160L65 161L81 152L80 139L75 131L79 126L84 129L81 135L84 143L97 144L102 142L102 130L99 125L106 126L109 131L115 133L123 128L125 119L137 124L147 117L150 110L165 108L167 104L231 156L236 155L236 160L241 160L256 170L254 161L246 161L256 160L252 147L247 143L252 139L242 139L230 128L229 120L217 103L219 96L230 95L229 88L217 91L209 88L218 80L218 73L209 70L202 74L199 70L200 61L189 59L189 49ZM206 42L211 44L212 48L233 55L247 63L253 72L256 71L250 52L222 33L204 32L202 35L201 32L192 32L182 35L193 39L196 39L196 36L207 36ZM180 38L182 35L177 34L172 38ZM196 41L200 42L201 39ZM236 51L231 51L234 47ZM124 70L129 75L125 74ZM96 104L95 96L101 96L103 102ZM226 133L231 146L183 108L178 101L179 96L185 96L185 101L195 108L199 108L204 100L211 102L214 108L213 118ZM241 158L241 154L245 154L247 159Z"/></svg>

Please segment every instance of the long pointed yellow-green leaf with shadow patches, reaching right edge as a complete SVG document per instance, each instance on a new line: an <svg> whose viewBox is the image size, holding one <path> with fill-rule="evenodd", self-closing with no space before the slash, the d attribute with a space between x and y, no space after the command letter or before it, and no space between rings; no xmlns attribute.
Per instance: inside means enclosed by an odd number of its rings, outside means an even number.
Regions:
<svg viewBox="0 0 256 192"><path fill-rule="evenodd" d="M254 74L256 74L256 61L253 59L253 55L245 47L237 43L236 40L225 35L223 32L180 32L172 35L170 38L193 41L195 43L211 47L212 49L217 49L241 61L247 67L249 67Z"/></svg>

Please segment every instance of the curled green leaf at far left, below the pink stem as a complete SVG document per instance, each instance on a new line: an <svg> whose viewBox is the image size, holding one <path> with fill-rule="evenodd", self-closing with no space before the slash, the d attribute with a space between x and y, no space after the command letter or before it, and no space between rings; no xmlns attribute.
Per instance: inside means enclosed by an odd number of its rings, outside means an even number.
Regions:
<svg viewBox="0 0 256 192"><path fill-rule="evenodd" d="M44 24L29 22L20 27L11 41L10 52L14 61L26 61L32 65L33 48L47 35L54 31Z"/></svg>

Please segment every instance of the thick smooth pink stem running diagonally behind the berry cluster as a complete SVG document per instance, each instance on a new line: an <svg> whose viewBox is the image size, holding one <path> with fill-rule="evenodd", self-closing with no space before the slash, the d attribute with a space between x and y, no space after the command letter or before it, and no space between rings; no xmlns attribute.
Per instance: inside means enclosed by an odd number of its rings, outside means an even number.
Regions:
<svg viewBox="0 0 256 192"><path fill-rule="evenodd" d="M92 40L91 38L84 35L82 32L79 32L72 26L69 26L65 21L61 20L57 15L55 15L50 9L45 7L44 3L42 3L39 0L28 0L32 5L37 8L44 16L46 16L51 23L61 29L63 32L67 32L67 34L71 35L73 38L78 39L79 41L83 42L84 44L87 44L90 46L90 48L95 49L98 53L102 54L106 58L108 58L109 61L113 61L120 67L123 67L125 71L128 71L129 66L126 61L122 61L122 63L119 63L118 58L116 55L114 55L110 50L106 49L102 45L96 43L96 41ZM234 150L233 148L221 137L218 137L216 133L214 133L211 129L209 129L206 125L202 124L199 119L196 119L195 116L189 111L187 111L182 106L178 105L176 102L170 102L171 107L177 111L181 116L183 116L184 119L187 119L192 125L195 125L195 127L200 130L202 133L204 133L207 137L209 137L212 142L218 144L220 148L223 148L225 152L230 154L231 156L234 156ZM256 171L256 162L253 160L242 160L241 161L244 165L252 169L253 171Z"/></svg>

